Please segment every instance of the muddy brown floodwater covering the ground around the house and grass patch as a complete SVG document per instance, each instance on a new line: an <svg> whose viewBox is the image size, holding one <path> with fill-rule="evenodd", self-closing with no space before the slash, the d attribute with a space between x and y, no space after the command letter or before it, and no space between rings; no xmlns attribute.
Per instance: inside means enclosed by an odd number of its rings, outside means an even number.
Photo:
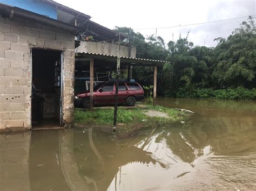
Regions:
<svg viewBox="0 0 256 191"><path fill-rule="evenodd" d="M158 98L185 123L0 135L0 190L256 190L256 102Z"/></svg>

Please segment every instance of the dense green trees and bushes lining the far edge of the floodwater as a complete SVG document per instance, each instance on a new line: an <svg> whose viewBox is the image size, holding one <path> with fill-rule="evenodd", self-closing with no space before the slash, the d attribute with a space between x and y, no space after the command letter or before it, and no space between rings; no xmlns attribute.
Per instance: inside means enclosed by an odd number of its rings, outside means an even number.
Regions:
<svg viewBox="0 0 256 191"><path fill-rule="evenodd" d="M158 94L169 97L198 97L256 100L256 27L249 17L230 36L216 38L216 47L193 46L185 38L165 44L154 35L145 38L127 27L116 31L129 37L138 58L167 60L158 69ZM124 39L123 44L128 43ZM142 86L153 84L153 69L134 67L133 77Z"/></svg>

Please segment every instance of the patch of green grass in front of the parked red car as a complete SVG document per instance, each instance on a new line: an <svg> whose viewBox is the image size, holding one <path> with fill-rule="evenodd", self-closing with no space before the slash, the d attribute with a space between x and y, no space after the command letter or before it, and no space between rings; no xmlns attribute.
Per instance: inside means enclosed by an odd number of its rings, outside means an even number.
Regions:
<svg viewBox="0 0 256 191"><path fill-rule="evenodd" d="M156 110L165 112L170 118L162 117L149 117L144 114L147 110ZM87 123L87 124L112 124L113 123L113 109L94 109L83 110L75 109L75 122L76 123ZM123 124L136 124L136 123L171 123L176 122L185 117L180 111L173 110L165 107L153 107L149 105L147 109L123 109L120 108L117 111L117 123ZM144 120L143 120L144 119Z"/></svg>

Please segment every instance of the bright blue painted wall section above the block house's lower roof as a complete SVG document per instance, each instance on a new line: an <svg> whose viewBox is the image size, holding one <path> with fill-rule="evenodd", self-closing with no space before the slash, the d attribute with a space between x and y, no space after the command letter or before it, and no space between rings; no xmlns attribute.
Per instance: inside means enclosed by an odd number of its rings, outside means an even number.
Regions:
<svg viewBox="0 0 256 191"><path fill-rule="evenodd" d="M57 11L55 10L55 7L38 0L0 0L0 3L16 6L17 8L25 9L40 15L44 15L46 17L57 19Z"/></svg>

